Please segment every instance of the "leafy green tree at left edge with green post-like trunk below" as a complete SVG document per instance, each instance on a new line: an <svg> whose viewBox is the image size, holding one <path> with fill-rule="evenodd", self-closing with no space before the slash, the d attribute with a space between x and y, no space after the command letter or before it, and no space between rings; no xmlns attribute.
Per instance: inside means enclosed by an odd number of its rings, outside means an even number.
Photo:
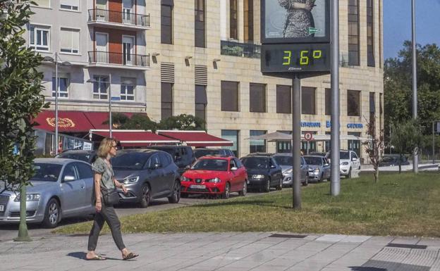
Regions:
<svg viewBox="0 0 440 271"><path fill-rule="evenodd" d="M20 191L18 241L30 241L26 185L35 158L32 118L44 106L42 73L37 71L42 57L23 39L32 14L30 1L0 0L0 179L6 180L7 189Z"/></svg>

